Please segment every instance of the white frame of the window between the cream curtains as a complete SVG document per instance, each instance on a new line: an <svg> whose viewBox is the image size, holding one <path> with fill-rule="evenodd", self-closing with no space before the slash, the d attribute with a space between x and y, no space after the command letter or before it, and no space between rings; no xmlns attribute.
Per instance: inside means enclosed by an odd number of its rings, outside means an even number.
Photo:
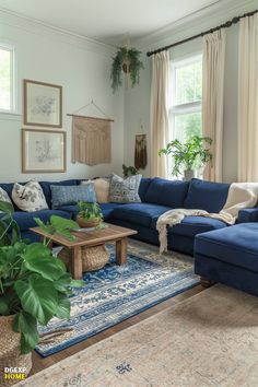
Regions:
<svg viewBox="0 0 258 387"><path fill-rule="evenodd" d="M202 99L189 102L189 103L183 103L183 104L175 104L175 105L173 104L173 101L176 101L176 70L187 64L195 63L198 60L202 61L201 51L191 54L185 58L171 60L172 89L171 89L171 98L169 98L171 104L168 107L169 121L171 121L171 130L169 130L171 140L173 140L175 137L176 115L179 116L179 115L185 115L190 113L201 113Z"/></svg>

